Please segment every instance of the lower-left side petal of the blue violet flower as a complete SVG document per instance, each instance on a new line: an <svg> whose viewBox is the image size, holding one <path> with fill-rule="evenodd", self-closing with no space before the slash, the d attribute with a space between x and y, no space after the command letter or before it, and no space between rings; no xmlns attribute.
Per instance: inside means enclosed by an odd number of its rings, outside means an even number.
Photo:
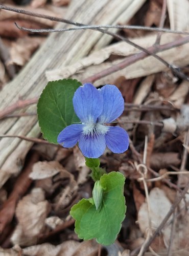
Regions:
<svg viewBox="0 0 189 256"><path fill-rule="evenodd" d="M80 134L83 132L83 124L71 124L59 133L57 142L63 147L73 147L78 142Z"/></svg>

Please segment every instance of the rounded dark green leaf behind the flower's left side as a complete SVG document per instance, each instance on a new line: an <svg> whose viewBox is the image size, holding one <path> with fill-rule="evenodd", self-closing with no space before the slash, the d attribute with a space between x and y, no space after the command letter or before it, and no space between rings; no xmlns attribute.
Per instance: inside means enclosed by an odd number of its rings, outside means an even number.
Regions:
<svg viewBox="0 0 189 256"><path fill-rule="evenodd" d="M37 104L39 126L44 139L57 143L59 133L80 120L74 112L73 97L82 84L76 79L48 82Z"/></svg>

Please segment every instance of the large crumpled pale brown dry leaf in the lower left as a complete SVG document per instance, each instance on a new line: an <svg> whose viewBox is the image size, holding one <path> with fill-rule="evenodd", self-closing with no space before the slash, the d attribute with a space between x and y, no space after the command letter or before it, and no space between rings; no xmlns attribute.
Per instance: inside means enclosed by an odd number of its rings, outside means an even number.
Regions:
<svg viewBox="0 0 189 256"><path fill-rule="evenodd" d="M36 242L38 234L45 227L49 209L41 188L34 188L31 194L23 197L16 207L18 225L12 234L12 243L26 246Z"/></svg>

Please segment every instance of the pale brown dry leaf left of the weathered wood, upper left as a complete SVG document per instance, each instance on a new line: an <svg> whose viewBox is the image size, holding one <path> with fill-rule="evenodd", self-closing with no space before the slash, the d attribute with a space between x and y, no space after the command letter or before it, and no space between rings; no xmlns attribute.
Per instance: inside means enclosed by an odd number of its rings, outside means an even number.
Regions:
<svg viewBox="0 0 189 256"><path fill-rule="evenodd" d="M10 63L18 66L25 65L44 40L44 37L25 36L13 41L10 48Z"/></svg>

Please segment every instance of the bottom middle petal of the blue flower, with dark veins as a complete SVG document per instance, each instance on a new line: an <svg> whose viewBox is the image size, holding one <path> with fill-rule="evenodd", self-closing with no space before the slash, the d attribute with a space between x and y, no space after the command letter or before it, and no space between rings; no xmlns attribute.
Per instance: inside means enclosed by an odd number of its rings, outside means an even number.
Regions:
<svg viewBox="0 0 189 256"><path fill-rule="evenodd" d="M79 138L79 148L85 157L98 158L104 153L106 148L105 135L81 134Z"/></svg>

